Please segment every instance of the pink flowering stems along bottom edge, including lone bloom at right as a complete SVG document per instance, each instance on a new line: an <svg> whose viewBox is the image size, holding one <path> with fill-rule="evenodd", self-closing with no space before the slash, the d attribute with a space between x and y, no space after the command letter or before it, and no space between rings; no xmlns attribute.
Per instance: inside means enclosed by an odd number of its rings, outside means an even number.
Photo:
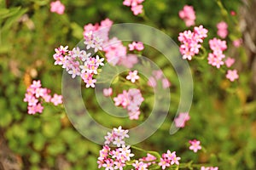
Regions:
<svg viewBox="0 0 256 170"><path fill-rule="evenodd" d="M111 133L105 136L105 142L100 150L98 157L98 168L105 170L113 169L131 169L147 170L147 169L201 169L201 170L218 170L218 167L204 167L201 164L195 164L193 161L188 163L180 163L181 157L176 155L176 151L167 150L161 154L156 151L148 151L125 144L125 138L129 138L129 131L122 127L113 128ZM201 150L201 142L194 139L189 140L189 150L197 152ZM145 157L134 159L137 157L131 150L143 152Z"/></svg>

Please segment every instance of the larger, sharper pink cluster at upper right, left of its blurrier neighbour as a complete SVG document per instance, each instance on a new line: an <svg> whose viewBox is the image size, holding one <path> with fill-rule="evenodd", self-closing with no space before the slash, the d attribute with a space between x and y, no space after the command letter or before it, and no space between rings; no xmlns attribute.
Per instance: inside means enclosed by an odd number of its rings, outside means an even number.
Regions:
<svg viewBox="0 0 256 170"><path fill-rule="evenodd" d="M179 33L178 41L182 43L179 50L183 59L191 60L195 54L199 54L200 43L207 37L207 32L203 26L195 26L193 32L183 31Z"/></svg>

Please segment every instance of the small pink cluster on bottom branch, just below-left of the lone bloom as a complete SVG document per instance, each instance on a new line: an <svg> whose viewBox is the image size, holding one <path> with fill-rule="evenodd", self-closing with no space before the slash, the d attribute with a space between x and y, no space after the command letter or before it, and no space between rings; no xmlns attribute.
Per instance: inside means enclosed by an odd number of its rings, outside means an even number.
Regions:
<svg viewBox="0 0 256 170"><path fill-rule="evenodd" d="M162 167L162 169L166 169L166 167L170 167L173 164L178 165L179 160L181 158L176 156L176 152L171 152L170 150L167 150L167 153L164 153L162 157L160 158L159 166Z"/></svg>

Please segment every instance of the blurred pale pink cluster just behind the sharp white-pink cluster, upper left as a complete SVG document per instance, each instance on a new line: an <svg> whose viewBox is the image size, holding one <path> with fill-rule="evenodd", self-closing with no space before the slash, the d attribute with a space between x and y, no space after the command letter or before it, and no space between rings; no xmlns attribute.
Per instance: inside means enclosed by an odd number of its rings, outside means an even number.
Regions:
<svg viewBox="0 0 256 170"><path fill-rule="evenodd" d="M127 68L131 68L137 63L137 56L126 53L126 47L122 44L117 37L113 37L109 40L108 32L113 25L113 21L106 19L102 20L100 24L95 25L88 24L84 26L84 43L86 48L95 48L105 52L108 63L112 65L125 65ZM133 43L134 48L137 50L143 50L142 42Z"/></svg>

